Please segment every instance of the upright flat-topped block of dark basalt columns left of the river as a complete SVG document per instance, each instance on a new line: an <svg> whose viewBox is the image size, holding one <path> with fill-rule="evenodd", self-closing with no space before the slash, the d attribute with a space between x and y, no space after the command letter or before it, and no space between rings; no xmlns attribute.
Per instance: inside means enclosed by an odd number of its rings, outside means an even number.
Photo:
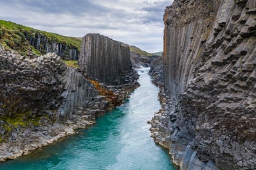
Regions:
<svg viewBox="0 0 256 170"><path fill-rule="evenodd" d="M100 34L83 38L78 62L86 76L107 85L127 83L125 73L132 71L129 47Z"/></svg>

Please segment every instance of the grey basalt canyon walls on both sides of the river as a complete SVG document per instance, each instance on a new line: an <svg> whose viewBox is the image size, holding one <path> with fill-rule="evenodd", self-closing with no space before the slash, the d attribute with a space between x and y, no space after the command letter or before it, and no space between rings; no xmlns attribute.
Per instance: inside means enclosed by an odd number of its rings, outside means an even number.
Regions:
<svg viewBox="0 0 256 170"><path fill-rule="evenodd" d="M133 67L150 64L161 88L151 136L174 164L256 169L256 1L174 0L163 22L160 58L95 33L82 38L80 50L25 36L54 52L43 56L0 47L0 160L89 127L139 86ZM79 67L67 67L66 58Z"/></svg>

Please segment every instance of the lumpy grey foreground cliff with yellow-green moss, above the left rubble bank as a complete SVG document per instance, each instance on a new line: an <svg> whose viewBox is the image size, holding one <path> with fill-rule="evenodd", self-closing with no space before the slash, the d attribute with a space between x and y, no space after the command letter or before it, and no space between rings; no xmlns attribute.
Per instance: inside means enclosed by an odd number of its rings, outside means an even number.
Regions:
<svg viewBox="0 0 256 170"><path fill-rule="evenodd" d="M1 48L0 70L1 137L18 126L38 124L40 117L68 119L98 96L90 81L54 53L25 58Z"/></svg>

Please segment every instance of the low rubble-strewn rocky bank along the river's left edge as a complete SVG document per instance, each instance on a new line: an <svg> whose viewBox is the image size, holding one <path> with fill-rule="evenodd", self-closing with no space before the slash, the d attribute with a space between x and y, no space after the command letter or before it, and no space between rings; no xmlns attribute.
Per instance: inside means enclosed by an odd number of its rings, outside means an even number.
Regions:
<svg viewBox="0 0 256 170"><path fill-rule="evenodd" d="M104 115L118 105L124 103L132 90L138 87L138 83L129 83L125 86L107 87L113 92L112 101L105 100L104 96L98 95L95 101L89 103L90 107L78 108L77 115L63 121L49 122L48 117L41 117L38 125L18 126L19 129L12 132L6 142L0 145L0 162L15 159L22 155L28 155L38 148L53 144L59 139L75 134L75 130L89 128L96 123L96 117Z"/></svg>

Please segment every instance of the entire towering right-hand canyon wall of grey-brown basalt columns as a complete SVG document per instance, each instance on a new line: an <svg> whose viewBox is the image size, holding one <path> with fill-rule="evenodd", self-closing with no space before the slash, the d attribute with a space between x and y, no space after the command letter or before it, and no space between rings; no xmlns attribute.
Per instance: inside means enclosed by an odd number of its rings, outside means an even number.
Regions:
<svg viewBox="0 0 256 170"><path fill-rule="evenodd" d="M181 169L256 168L256 1L174 1L152 136Z"/></svg>

